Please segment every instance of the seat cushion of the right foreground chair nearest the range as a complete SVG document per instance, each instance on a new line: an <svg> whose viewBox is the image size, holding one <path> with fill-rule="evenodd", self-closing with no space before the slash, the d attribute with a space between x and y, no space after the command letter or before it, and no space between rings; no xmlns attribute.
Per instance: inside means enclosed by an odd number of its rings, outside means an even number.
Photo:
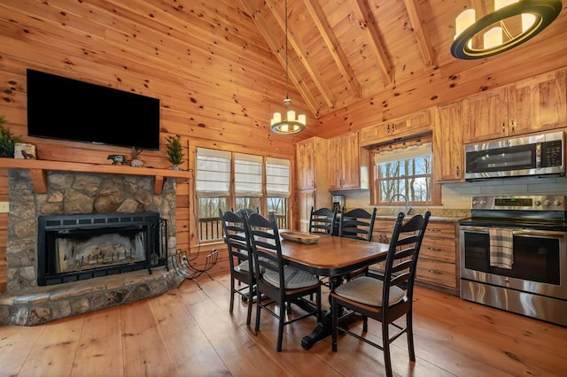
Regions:
<svg viewBox="0 0 567 377"><path fill-rule="evenodd" d="M343 296L362 304L382 306L382 289L384 282L368 276L361 276L347 281L335 289L338 296ZM399 287L390 288L389 306L399 303L406 296L406 292Z"/></svg>

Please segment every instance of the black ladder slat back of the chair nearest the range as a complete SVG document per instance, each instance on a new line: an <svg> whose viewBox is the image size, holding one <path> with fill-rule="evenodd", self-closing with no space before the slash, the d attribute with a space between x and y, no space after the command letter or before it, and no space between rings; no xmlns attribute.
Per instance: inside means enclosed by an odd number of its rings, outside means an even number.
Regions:
<svg viewBox="0 0 567 377"><path fill-rule="evenodd" d="M390 248L384 265L383 303L389 302L390 287L407 282L406 296L411 302L416 279L417 258L431 212L415 215L405 224L400 212L392 229Z"/></svg>

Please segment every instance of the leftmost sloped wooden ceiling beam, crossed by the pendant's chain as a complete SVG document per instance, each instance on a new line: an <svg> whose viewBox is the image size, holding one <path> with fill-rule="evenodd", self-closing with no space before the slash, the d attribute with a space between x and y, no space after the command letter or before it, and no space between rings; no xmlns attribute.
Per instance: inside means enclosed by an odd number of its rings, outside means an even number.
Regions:
<svg viewBox="0 0 567 377"><path fill-rule="evenodd" d="M276 37L272 34L270 26L267 25L266 21L261 17L256 17L257 13L260 12L259 8L253 8L252 5L249 4L248 0L241 0L240 4L242 4L245 11L252 17L254 24L256 24L256 27L258 27L258 29L260 30L260 34L263 36L266 42L268 42L270 50L274 52L274 55L279 60L280 64L285 66L285 49L278 47ZM297 69L295 69L294 65L288 65L288 68L291 81L293 81L293 83L295 84L295 87L298 89L299 94L303 97L303 100L306 102L309 110L314 114L315 118L318 118L319 111L317 109L317 102L315 101L315 97L312 96L311 91L309 90L309 88L307 88L305 81L301 80L301 75L299 74Z"/></svg>

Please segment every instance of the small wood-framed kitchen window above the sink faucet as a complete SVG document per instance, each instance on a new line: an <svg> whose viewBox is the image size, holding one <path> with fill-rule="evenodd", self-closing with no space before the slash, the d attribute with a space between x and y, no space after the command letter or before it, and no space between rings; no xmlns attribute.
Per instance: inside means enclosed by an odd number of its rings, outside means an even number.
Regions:
<svg viewBox="0 0 567 377"><path fill-rule="evenodd" d="M406 196L414 204L433 202L436 190L431 181L431 155L431 142L375 154L376 202L387 204L395 194ZM394 200L400 201L400 197Z"/></svg>

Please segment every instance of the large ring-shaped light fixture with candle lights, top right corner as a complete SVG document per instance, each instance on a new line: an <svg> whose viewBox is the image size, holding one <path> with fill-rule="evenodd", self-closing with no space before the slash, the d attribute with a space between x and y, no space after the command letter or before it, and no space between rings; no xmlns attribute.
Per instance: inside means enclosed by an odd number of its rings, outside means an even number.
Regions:
<svg viewBox="0 0 567 377"><path fill-rule="evenodd" d="M454 58L488 58L537 35L559 15L561 0L494 0L494 12L476 20L474 9L455 19Z"/></svg>

